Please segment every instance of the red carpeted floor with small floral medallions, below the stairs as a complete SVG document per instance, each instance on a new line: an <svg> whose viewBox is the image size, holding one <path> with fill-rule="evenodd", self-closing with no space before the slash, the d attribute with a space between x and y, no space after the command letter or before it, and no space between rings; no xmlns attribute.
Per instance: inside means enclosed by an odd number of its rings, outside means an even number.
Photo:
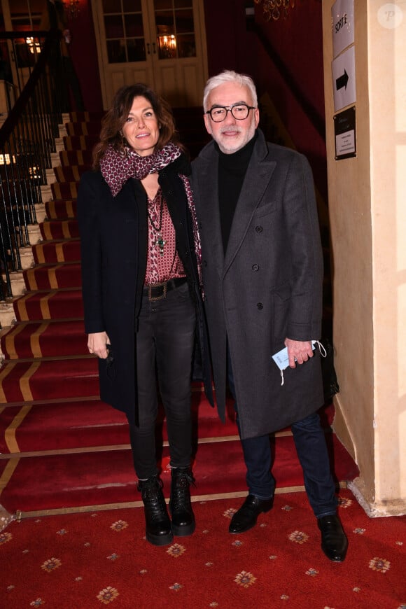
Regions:
<svg viewBox="0 0 406 609"><path fill-rule="evenodd" d="M194 504L194 535L153 547L140 508L23 519L0 533L1 607L404 609L406 517L369 519L349 491L344 563L320 549L304 493L230 535L240 500Z"/></svg>

